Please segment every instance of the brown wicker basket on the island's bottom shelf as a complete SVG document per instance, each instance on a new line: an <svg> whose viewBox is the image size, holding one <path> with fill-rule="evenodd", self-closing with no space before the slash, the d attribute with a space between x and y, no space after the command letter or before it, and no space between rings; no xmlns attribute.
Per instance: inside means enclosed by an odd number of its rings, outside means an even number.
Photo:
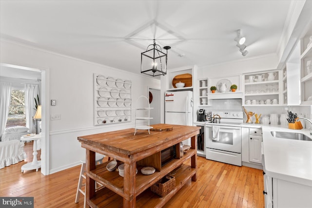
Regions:
<svg viewBox="0 0 312 208"><path fill-rule="evenodd" d="M161 197L166 196L176 187L176 178L174 176L166 175L155 184L151 186L151 191Z"/></svg>

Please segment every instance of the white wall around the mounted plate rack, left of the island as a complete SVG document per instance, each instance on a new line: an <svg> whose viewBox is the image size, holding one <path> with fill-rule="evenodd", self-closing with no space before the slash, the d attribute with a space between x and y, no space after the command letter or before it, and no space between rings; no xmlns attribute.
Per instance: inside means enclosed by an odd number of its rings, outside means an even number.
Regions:
<svg viewBox="0 0 312 208"><path fill-rule="evenodd" d="M1 40L0 62L49 69L49 99L56 99L56 106L49 106L50 114L60 114L61 120L50 121L50 173L79 164L85 157L78 136L134 128L132 122L93 125L93 74L132 80L133 108L140 95L148 96L147 89L160 88L160 80L128 73L104 65L62 56L15 42ZM139 56L138 56L139 58Z"/></svg>

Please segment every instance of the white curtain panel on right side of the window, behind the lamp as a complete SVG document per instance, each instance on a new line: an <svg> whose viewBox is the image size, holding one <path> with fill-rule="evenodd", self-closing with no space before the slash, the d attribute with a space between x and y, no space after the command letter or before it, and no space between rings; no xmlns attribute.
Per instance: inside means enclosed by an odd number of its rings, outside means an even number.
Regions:
<svg viewBox="0 0 312 208"><path fill-rule="evenodd" d="M39 95L39 87L37 84L25 84L25 114L26 114L26 127L29 132L36 133L34 119L36 114L35 97ZM39 97L40 99L40 97Z"/></svg>

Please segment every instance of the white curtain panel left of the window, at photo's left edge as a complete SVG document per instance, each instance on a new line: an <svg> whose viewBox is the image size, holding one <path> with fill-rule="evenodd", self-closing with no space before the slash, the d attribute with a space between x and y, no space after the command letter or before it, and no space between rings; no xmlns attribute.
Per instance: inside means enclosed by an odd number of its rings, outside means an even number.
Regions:
<svg viewBox="0 0 312 208"><path fill-rule="evenodd" d="M11 83L0 82L0 136L4 133L6 120L8 119L11 102L11 89Z"/></svg>

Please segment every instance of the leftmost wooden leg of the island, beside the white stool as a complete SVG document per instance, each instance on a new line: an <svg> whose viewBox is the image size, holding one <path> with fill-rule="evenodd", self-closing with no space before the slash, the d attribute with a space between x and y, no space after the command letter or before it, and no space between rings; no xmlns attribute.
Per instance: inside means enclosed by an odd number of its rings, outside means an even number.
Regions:
<svg viewBox="0 0 312 208"><path fill-rule="evenodd" d="M94 151L90 151L86 149L86 172L90 172L90 170L94 170L96 168L96 153ZM87 205L88 201L92 199L96 194L96 186L95 180L90 178L88 174L86 174L86 200Z"/></svg>

